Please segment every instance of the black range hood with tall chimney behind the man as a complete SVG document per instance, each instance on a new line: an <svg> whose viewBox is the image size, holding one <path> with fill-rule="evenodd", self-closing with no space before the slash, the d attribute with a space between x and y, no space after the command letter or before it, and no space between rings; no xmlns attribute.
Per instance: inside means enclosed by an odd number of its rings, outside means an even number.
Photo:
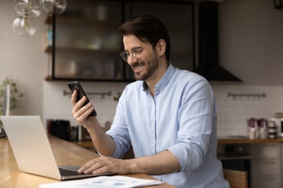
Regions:
<svg viewBox="0 0 283 188"><path fill-rule="evenodd" d="M218 2L203 1L199 4L199 64L195 72L208 81L242 82L219 65Z"/></svg>

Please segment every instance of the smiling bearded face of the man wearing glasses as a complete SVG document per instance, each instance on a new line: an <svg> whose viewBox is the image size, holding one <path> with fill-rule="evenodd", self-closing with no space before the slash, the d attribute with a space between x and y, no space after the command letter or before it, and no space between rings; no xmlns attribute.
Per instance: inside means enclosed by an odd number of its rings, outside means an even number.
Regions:
<svg viewBox="0 0 283 188"><path fill-rule="evenodd" d="M159 60L156 52L152 49L149 42L143 42L134 35L126 35L123 37L124 47L126 51L131 52L133 48L142 49L140 58L135 58L130 53L128 64L132 67L136 80L149 79L158 69Z"/></svg>

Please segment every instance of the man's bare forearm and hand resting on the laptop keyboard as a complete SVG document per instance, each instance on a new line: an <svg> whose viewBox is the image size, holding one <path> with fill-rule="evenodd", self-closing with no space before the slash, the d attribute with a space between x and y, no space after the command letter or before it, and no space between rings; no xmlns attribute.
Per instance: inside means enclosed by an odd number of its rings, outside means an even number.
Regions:
<svg viewBox="0 0 283 188"><path fill-rule="evenodd" d="M169 150L159 154L144 156L135 159L114 159L101 156L90 160L78 170L79 173L146 173L149 175L162 175L180 171L178 159Z"/></svg>

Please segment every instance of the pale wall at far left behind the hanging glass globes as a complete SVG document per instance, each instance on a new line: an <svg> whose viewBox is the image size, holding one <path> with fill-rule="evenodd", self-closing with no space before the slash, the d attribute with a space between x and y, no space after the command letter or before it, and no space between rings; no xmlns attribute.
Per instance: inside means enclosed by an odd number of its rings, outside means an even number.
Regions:
<svg viewBox="0 0 283 188"><path fill-rule="evenodd" d="M44 53L44 13L37 19L37 32L31 38L17 37L12 23L17 18L14 0L0 0L0 83L14 79L23 93L20 107L11 114L42 115L42 81L47 75L48 55Z"/></svg>

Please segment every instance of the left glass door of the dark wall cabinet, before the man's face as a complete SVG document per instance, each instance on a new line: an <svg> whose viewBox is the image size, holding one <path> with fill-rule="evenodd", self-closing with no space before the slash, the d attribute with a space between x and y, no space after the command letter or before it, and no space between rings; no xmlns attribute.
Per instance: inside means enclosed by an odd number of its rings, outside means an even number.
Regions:
<svg viewBox="0 0 283 188"><path fill-rule="evenodd" d="M53 79L123 80L122 3L67 0L54 27Z"/></svg>

